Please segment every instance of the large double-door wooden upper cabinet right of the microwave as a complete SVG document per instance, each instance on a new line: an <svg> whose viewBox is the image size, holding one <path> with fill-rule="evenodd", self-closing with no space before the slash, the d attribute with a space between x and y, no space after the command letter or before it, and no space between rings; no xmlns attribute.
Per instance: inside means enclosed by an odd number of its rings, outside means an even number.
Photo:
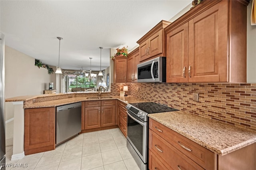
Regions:
<svg viewBox="0 0 256 170"><path fill-rule="evenodd" d="M166 82L246 82L247 5L202 1L166 27Z"/></svg>

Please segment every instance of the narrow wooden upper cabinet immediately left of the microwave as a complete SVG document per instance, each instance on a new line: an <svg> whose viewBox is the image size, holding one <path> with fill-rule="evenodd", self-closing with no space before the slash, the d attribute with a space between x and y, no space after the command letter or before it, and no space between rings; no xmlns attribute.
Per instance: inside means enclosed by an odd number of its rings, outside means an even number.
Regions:
<svg viewBox="0 0 256 170"><path fill-rule="evenodd" d="M137 65L140 63L139 47L127 56L127 83L137 83Z"/></svg>

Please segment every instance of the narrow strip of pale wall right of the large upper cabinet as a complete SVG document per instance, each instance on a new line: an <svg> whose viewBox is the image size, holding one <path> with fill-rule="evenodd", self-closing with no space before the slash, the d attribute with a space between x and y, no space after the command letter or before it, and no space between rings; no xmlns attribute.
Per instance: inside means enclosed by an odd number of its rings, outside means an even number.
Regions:
<svg viewBox="0 0 256 170"><path fill-rule="evenodd" d="M252 1L247 7L247 83L256 83L256 26L251 26Z"/></svg>

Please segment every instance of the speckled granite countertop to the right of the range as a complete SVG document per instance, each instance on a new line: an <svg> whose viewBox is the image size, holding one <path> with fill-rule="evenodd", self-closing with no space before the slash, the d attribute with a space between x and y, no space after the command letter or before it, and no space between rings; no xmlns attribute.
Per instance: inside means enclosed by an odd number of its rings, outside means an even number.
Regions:
<svg viewBox="0 0 256 170"><path fill-rule="evenodd" d="M150 114L148 117L223 156L256 142L256 132L192 115L185 111Z"/></svg>

